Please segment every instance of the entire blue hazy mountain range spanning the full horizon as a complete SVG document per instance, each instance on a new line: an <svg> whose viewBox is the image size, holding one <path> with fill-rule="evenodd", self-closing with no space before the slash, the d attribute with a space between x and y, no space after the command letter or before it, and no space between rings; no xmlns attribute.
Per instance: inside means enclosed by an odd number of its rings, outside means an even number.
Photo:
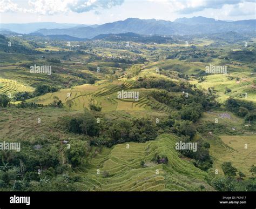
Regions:
<svg viewBox="0 0 256 209"><path fill-rule="evenodd" d="M66 35L76 38L93 38L101 34L137 33L139 35L201 35L233 31L256 32L256 20L219 21L213 18L178 18L175 21L127 18L124 21L102 25L26 23L0 24L0 30L16 33L41 33L42 35Z"/></svg>

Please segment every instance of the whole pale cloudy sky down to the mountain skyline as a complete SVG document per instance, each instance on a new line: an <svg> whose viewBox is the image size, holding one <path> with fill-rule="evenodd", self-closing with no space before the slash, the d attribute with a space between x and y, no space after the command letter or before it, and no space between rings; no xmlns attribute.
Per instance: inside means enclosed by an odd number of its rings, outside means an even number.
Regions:
<svg viewBox="0 0 256 209"><path fill-rule="evenodd" d="M129 17L256 19L256 0L0 0L0 23L104 24Z"/></svg>

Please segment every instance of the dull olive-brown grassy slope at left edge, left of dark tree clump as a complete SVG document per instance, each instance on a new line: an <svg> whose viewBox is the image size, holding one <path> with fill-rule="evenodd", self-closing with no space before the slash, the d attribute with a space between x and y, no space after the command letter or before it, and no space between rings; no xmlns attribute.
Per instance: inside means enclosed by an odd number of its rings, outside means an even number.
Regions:
<svg viewBox="0 0 256 209"><path fill-rule="evenodd" d="M56 141L60 145L60 140L71 135L57 131L54 125L58 122L59 117L76 113L56 108L2 109L0 114L1 140L33 143L35 140L48 141L51 136L56 136ZM38 123L38 118L41 119L41 123Z"/></svg>

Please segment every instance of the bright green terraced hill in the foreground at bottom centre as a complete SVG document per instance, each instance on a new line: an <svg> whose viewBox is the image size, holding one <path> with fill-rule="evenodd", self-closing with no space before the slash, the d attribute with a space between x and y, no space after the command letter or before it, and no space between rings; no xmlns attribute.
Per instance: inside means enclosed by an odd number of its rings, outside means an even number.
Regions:
<svg viewBox="0 0 256 209"><path fill-rule="evenodd" d="M131 142L100 151L94 148L91 160L75 171L83 179L79 187L83 191L199 191L200 186L213 190L206 172L180 158L174 149L176 140L162 134L144 144ZM152 163L155 154L165 154L169 163ZM140 165L142 160L145 167Z"/></svg>

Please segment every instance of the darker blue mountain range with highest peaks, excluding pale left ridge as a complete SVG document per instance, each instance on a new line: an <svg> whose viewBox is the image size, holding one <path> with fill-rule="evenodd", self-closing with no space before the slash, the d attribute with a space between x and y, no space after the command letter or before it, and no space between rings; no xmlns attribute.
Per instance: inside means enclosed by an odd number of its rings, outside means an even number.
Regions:
<svg viewBox="0 0 256 209"><path fill-rule="evenodd" d="M43 35L69 35L78 38L93 38L100 34L133 32L140 35L192 35L234 31L255 32L255 20L215 21L213 18L179 18L174 22L156 19L128 18L125 21L69 29L41 29Z"/></svg>

